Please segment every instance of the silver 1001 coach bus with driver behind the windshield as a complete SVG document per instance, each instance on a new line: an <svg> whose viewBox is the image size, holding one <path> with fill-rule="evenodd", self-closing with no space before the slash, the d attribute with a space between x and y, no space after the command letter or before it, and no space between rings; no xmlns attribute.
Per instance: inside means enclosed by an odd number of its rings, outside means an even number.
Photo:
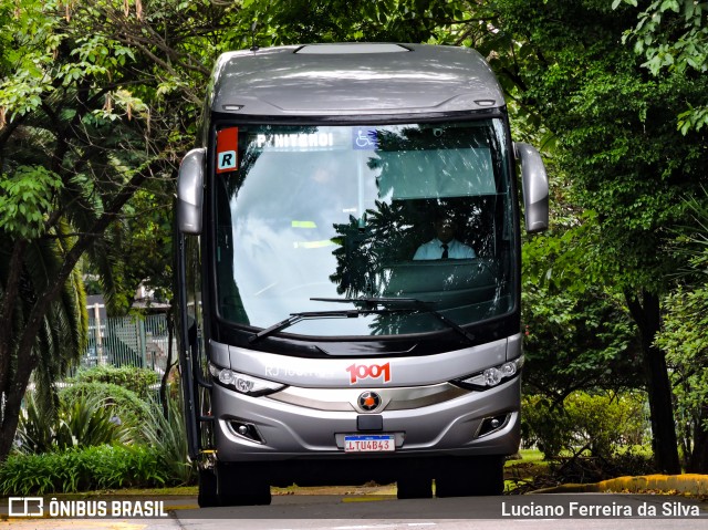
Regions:
<svg viewBox="0 0 708 530"><path fill-rule="evenodd" d="M518 189L527 231L549 206L485 59L228 52L199 131L175 216L199 505L267 505L293 484L501 493L520 441Z"/></svg>

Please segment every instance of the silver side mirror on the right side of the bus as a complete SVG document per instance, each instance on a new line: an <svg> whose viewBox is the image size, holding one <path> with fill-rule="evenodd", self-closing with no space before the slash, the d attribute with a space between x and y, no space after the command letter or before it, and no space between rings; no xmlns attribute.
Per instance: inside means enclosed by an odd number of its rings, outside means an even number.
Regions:
<svg viewBox="0 0 708 530"><path fill-rule="evenodd" d="M517 159L521 162L521 187L527 231L540 232L549 227L549 179L545 166L535 147L514 143Z"/></svg>

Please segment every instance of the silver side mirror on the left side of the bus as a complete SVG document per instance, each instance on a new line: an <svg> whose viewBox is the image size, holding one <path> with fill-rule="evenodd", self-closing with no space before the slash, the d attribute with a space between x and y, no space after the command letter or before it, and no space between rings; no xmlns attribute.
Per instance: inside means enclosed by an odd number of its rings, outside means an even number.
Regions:
<svg viewBox="0 0 708 530"><path fill-rule="evenodd" d="M177 176L177 226L185 233L201 233L204 166L207 150L191 149L179 165Z"/></svg>

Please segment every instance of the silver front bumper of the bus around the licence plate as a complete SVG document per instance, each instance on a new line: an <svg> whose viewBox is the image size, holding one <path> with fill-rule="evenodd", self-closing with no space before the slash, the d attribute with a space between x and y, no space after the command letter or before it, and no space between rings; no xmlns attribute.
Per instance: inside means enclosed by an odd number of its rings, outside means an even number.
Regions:
<svg viewBox="0 0 708 530"><path fill-rule="evenodd" d="M511 455L519 448L520 377L483 392L447 383L376 388L372 392L382 406L372 413L357 411L357 399L366 392L288 387L251 397L215 385L218 459L403 459ZM393 441L381 453L345 450L347 437L364 435L388 436Z"/></svg>

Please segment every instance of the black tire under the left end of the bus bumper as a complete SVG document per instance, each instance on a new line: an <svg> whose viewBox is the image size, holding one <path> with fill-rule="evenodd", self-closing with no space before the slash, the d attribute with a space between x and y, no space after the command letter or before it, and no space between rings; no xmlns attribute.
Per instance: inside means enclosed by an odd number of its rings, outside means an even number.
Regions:
<svg viewBox="0 0 708 530"><path fill-rule="evenodd" d="M270 484L251 463L217 463L219 506L270 505Z"/></svg>

